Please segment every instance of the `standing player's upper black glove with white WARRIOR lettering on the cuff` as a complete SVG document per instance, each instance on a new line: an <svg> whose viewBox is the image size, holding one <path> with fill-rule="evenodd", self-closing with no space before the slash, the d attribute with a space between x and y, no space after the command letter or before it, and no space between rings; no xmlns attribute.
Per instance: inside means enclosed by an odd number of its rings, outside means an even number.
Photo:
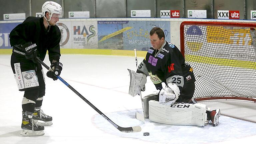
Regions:
<svg viewBox="0 0 256 144"><path fill-rule="evenodd" d="M32 42L27 42L22 45L22 50L25 51L26 59L32 60L34 63L37 63L37 48L36 44L32 44Z"/></svg>

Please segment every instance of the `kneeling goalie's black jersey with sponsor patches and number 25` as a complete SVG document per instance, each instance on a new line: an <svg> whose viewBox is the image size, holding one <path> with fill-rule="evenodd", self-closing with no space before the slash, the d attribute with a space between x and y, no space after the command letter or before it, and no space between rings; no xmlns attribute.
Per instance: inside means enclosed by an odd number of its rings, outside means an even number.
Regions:
<svg viewBox="0 0 256 144"><path fill-rule="evenodd" d="M166 41L159 51L150 47L137 72L143 72L150 76L158 90L162 89L162 82L165 82L166 85L175 83L180 91L185 82L195 82L193 69L190 65L185 64L185 59L179 49Z"/></svg>

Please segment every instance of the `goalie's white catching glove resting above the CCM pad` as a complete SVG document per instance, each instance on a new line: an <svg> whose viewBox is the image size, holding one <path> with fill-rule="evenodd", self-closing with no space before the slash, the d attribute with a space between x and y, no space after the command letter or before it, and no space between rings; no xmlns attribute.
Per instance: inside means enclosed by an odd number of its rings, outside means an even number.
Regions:
<svg viewBox="0 0 256 144"><path fill-rule="evenodd" d="M162 87L159 92L159 103L173 104L179 98L179 87L174 83L168 83L168 87L162 83Z"/></svg>

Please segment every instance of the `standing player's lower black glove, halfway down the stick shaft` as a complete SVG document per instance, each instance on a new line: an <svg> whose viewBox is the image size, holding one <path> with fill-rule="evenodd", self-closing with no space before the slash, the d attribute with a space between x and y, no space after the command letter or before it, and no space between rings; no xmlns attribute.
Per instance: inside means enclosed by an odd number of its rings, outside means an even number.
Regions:
<svg viewBox="0 0 256 144"><path fill-rule="evenodd" d="M51 69L53 70L53 72L52 71L48 71L46 73L47 77L52 78L53 80L57 80L58 79L57 76L60 75L62 67L63 67L63 65L60 62L52 63L51 64Z"/></svg>

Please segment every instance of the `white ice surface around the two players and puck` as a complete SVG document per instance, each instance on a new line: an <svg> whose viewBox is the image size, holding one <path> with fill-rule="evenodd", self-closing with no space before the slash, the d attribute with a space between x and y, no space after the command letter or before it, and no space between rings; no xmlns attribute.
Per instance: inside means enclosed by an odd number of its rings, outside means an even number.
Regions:
<svg viewBox="0 0 256 144"><path fill-rule="evenodd" d="M138 62L143 58L138 58ZM49 64L48 57L44 61ZM102 55L62 55L61 77L94 106L122 127L141 126L138 133L123 133L112 126L61 81L46 77L42 109L53 117L45 135L22 137L21 101L10 67L10 55L0 55L0 144L80 144L80 143L252 143L256 124L226 116L216 127L173 126L135 119L141 111L140 97L128 94L129 72L136 69L134 57ZM44 69L44 73L46 73ZM142 96L156 91L147 79ZM248 111L250 112L250 111ZM150 136L143 136L149 132Z"/></svg>

